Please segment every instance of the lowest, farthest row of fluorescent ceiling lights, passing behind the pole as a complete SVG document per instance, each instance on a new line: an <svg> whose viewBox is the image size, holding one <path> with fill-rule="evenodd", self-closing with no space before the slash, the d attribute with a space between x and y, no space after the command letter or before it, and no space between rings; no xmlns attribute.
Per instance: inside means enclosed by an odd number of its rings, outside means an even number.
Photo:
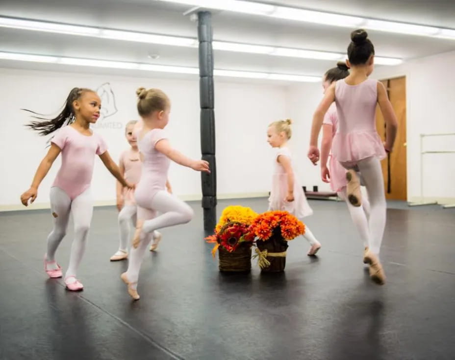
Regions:
<svg viewBox="0 0 455 360"><path fill-rule="evenodd" d="M42 56L42 55L29 55L10 52L0 52L0 60L14 60L14 61L29 61L50 64L63 64L73 66L87 66L87 67L105 67L117 68L127 70L146 70L153 72L169 72L180 74L199 74L197 67L176 67L167 65L152 65L141 63L129 63L122 61L108 61L108 60L95 60L95 59L79 59L70 57L55 57L55 56ZM254 72L254 71L240 71L240 70L222 70L215 69L213 71L215 76L228 76L228 77L241 77L249 79L269 79L269 80L284 80L284 81L298 81L298 82L318 82L321 81L319 76L305 76L305 75L291 75L291 74L274 74L267 72Z"/></svg>

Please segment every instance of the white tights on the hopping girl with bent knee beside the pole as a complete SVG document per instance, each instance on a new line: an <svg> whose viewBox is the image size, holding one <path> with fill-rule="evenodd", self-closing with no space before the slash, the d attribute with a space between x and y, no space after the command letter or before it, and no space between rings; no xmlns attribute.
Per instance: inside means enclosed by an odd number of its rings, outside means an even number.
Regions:
<svg viewBox="0 0 455 360"><path fill-rule="evenodd" d="M156 216L156 212L161 215ZM187 204L169 194L159 191L153 196L148 208L137 207L137 219L145 220L142 227L142 240L137 248L131 248L126 277L129 282L137 282L144 253L152 240L153 231L179 224L188 223L193 218L193 209ZM156 217L155 217L156 216Z"/></svg>

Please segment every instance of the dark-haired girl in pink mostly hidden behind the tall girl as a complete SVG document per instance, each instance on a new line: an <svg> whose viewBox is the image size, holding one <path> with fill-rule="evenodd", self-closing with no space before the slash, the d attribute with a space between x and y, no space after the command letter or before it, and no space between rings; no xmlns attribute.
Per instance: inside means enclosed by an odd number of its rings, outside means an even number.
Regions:
<svg viewBox="0 0 455 360"><path fill-rule="evenodd" d="M344 79L349 75L348 66L344 62L339 62L336 67L329 69L324 74L323 88L324 92L334 82ZM330 154L333 136L338 129L338 116L336 105L332 103L329 110L324 116L322 126L321 141L321 178L324 182L330 183L332 191L336 191L338 196L343 199L347 205L351 218L354 222L360 238L363 241L365 251L369 248L370 231L368 229L368 217L370 216L370 203L366 198L362 199L360 206L354 206L348 201L346 192L346 169L336 160L333 154ZM327 163L329 160L329 168Z"/></svg>

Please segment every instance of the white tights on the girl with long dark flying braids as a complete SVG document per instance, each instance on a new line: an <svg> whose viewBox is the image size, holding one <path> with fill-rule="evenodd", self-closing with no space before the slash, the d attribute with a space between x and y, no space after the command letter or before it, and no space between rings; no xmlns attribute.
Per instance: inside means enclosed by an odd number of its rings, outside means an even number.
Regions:
<svg viewBox="0 0 455 360"><path fill-rule="evenodd" d="M51 187L51 213L53 229L48 236L47 261L55 260L55 252L66 235L70 212L73 213L74 240L71 246L70 263L65 278L75 276L87 243L88 230L93 214L93 200L90 188L73 201L59 187Z"/></svg>

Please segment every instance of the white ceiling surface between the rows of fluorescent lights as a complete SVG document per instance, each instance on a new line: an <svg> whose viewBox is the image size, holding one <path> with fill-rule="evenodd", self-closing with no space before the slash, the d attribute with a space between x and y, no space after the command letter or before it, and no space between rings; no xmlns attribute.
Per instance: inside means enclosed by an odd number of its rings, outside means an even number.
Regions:
<svg viewBox="0 0 455 360"><path fill-rule="evenodd" d="M455 28L455 0L278 0L268 2L383 20ZM1 0L0 16L196 38L196 22L182 15L189 8L186 5L155 0ZM212 14L215 40L341 53L346 51L350 41L350 30L342 27L228 11L213 11ZM455 50L455 40L379 31L369 31L369 34L378 56L413 59ZM6 28L0 28L0 51L198 66L198 51L194 48ZM148 57L149 53L159 54L159 58L152 60ZM214 58L216 68L317 76L334 65L331 61L218 50L214 52ZM37 66L33 63L26 64L28 68Z"/></svg>

